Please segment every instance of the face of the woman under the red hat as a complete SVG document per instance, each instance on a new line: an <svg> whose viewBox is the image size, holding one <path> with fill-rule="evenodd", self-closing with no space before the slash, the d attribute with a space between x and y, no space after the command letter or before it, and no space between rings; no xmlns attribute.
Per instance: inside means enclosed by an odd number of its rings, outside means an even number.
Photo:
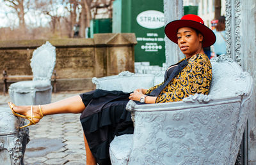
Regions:
<svg viewBox="0 0 256 165"><path fill-rule="evenodd" d="M202 34L196 34L196 31L190 27L182 27L177 32L178 45L181 52L187 59L195 54L204 54Z"/></svg>

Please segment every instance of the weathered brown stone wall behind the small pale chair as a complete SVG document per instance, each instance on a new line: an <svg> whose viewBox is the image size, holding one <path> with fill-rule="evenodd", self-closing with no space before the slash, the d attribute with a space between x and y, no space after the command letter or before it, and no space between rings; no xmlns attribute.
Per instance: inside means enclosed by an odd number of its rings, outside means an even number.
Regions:
<svg viewBox="0 0 256 165"><path fill-rule="evenodd" d="M90 39L50 39L56 47L57 91L92 90L92 77L134 72L135 35L95 34ZM0 41L0 69L8 75L32 75L33 50L45 40ZM2 76L2 75L1 75ZM9 81L10 83L16 82ZM0 83L3 89L3 82Z"/></svg>

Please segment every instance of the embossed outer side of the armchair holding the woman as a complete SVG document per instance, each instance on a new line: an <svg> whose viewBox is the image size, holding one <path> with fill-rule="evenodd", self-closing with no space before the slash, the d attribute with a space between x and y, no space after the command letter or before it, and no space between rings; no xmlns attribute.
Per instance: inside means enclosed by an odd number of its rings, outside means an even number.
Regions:
<svg viewBox="0 0 256 165"><path fill-rule="evenodd" d="M130 101L127 109L135 114L135 127L129 164L209 164L216 160L230 164L230 153L238 152L243 134L235 132L244 130L247 118L241 102L241 96L208 103L136 105ZM238 122L243 124L238 126Z"/></svg>

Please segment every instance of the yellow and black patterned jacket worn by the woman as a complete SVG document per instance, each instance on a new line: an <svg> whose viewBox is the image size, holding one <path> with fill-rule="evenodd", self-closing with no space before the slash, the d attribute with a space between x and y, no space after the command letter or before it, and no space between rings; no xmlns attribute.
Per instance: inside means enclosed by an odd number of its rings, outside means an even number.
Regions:
<svg viewBox="0 0 256 165"><path fill-rule="evenodd" d="M186 58L181 61L186 60ZM205 54L195 54L188 60L188 65L164 87L156 98L156 103L182 101L194 94L208 94L212 80L212 66ZM164 83L164 82L163 82ZM146 94L163 83L147 90Z"/></svg>

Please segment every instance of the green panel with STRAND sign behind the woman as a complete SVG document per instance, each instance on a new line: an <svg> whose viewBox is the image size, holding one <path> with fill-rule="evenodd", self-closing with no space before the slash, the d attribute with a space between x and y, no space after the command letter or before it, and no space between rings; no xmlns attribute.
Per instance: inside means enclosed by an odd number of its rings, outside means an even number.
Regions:
<svg viewBox="0 0 256 165"><path fill-rule="evenodd" d="M158 66L165 62L163 1L115 0L113 32L136 34L136 62L149 61Z"/></svg>

